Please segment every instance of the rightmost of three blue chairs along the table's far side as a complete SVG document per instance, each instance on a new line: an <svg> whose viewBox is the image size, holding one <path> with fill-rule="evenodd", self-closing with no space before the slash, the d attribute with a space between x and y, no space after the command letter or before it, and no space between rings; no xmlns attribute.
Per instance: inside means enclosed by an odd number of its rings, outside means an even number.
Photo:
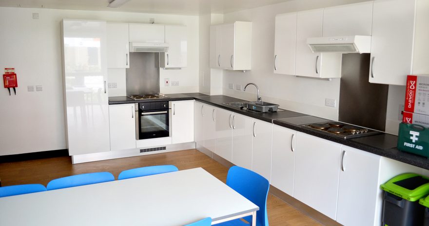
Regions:
<svg viewBox="0 0 429 226"><path fill-rule="evenodd" d="M159 173L165 172L174 172L177 171L177 167L173 165L164 165L164 166L151 166L151 167L141 167L136 169L127 169L119 173L117 177L118 180L141 177L141 176L149 176Z"/></svg>

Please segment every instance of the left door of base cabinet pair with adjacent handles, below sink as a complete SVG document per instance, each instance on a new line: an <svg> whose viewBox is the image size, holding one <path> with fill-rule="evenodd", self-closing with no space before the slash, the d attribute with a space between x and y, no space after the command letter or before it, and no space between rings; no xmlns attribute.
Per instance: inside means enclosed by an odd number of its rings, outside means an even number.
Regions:
<svg viewBox="0 0 429 226"><path fill-rule="evenodd" d="M215 153L232 162L233 160L233 113L216 108Z"/></svg>

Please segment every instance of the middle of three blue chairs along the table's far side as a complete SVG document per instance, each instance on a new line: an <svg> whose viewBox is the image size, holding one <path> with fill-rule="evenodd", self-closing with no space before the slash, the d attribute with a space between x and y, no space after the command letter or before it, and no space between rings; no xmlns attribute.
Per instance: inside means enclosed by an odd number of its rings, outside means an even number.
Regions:
<svg viewBox="0 0 429 226"><path fill-rule="evenodd" d="M114 180L115 176L113 176L113 174L110 172L92 172L52 180L48 183L48 186L46 186L46 188L48 190L55 190L60 188L71 188Z"/></svg>

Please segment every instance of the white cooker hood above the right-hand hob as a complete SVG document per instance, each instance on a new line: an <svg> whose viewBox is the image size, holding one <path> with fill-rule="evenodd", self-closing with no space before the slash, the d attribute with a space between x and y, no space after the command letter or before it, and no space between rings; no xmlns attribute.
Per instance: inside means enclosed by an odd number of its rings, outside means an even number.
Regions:
<svg viewBox="0 0 429 226"><path fill-rule="evenodd" d="M313 53L370 53L370 36L335 36L307 38Z"/></svg>

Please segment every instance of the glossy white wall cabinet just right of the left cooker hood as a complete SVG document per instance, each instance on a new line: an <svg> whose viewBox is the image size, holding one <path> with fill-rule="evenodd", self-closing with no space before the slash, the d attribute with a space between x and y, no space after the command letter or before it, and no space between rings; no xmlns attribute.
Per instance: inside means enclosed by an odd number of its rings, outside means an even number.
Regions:
<svg viewBox="0 0 429 226"><path fill-rule="evenodd" d="M187 66L188 38L187 27L180 25L165 25L165 42L168 51L160 53L161 68L184 68Z"/></svg>

